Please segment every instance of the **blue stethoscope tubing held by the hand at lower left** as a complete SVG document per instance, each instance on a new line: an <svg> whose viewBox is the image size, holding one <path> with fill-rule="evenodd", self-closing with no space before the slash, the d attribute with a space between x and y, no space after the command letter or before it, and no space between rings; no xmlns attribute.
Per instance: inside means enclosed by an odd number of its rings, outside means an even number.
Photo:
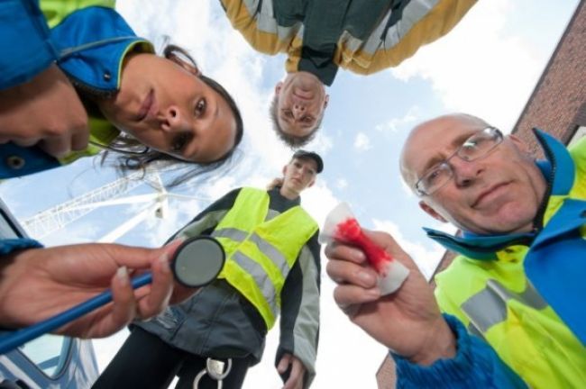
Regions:
<svg viewBox="0 0 586 389"><path fill-rule="evenodd" d="M151 284L151 282L151 272L134 277L132 281L133 289ZM112 290L108 289L105 292L96 295L96 297L92 297L84 303L79 303L78 305L69 308L69 310L61 312L60 314L53 316L46 321L41 321L30 327L24 328L23 330L15 330L8 334L2 335L0 336L0 355L7 353L13 348L20 347L24 343L40 337L45 333L48 333L52 330L57 330L62 325L67 324L69 321L79 319L86 313L92 312L96 308L99 308L106 303L110 303L111 301Z"/></svg>

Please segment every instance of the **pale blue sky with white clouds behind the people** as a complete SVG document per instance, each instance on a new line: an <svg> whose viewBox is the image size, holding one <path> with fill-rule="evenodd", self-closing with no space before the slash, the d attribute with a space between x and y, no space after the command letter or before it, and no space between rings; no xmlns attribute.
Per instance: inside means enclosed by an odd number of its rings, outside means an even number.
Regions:
<svg viewBox="0 0 586 389"><path fill-rule="evenodd" d="M388 231L431 276L444 250L426 239L422 226L453 231L417 205L398 176L398 153L408 131L436 115L478 115L504 132L511 131L578 0L492 0L479 2L452 32L420 49L398 68L369 77L340 70L323 128L306 149L320 153L325 170L302 196L302 204L321 225L336 204L350 204L366 228ZM243 147L229 168L205 180L169 190L168 217L150 216L120 243L157 247L207 204L234 187L264 187L279 176L291 151L272 133L268 107L275 83L285 76L282 55L263 56L233 31L215 0L118 0L117 8L133 29L160 46L186 48L204 74L234 96L243 113ZM535 123L539 126L540 123ZM13 179L0 196L22 221L35 213L87 193L116 178L112 169L86 159L73 166ZM148 185L131 195L152 193ZM42 194L42 195L40 195ZM47 245L95 241L138 213L144 204L102 207L64 230L44 238ZM320 345L314 387L375 387L386 349L353 326L336 307L334 283L322 257ZM127 331L94 341L103 369ZM278 330L270 332L261 363L247 375L244 388L279 388L273 367Z"/></svg>

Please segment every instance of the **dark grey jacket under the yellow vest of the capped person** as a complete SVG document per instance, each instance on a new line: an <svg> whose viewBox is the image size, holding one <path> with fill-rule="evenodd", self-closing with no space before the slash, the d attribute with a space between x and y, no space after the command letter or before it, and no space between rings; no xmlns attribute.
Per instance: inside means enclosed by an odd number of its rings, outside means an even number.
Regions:
<svg viewBox="0 0 586 389"><path fill-rule="evenodd" d="M175 236L211 235L233 207L240 189L224 195ZM299 204L269 192L268 219ZM300 359L307 369L306 384L315 375L319 332L320 263L316 232L300 251L281 291L280 341L277 362L284 353ZM135 325L170 345L204 357L246 357L261 360L266 324L254 306L224 280L204 287L187 302L169 307L157 318Z"/></svg>

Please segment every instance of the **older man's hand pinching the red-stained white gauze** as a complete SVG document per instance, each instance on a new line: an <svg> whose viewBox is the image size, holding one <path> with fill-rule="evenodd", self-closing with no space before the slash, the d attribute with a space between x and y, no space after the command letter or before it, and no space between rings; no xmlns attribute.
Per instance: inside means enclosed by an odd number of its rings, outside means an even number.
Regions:
<svg viewBox="0 0 586 389"><path fill-rule="evenodd" d="M380 296L376 272L362 250L334 243L325 248L326 271L335 283L334 300L353 323L411 361L430 365L455 355L455 338L440 314L431 286L389 234L364 231L410 274L397 292Z"/></svg>

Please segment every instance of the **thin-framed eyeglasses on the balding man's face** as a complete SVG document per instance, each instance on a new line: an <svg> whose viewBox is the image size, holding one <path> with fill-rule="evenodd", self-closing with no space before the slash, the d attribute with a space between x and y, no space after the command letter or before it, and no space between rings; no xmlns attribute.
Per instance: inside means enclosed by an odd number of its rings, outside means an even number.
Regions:
<svg viewBox="0 0 586 389"><path fill-rule="evenodd" d="M476 132L470 138L464 140L462 145L460 145L450 157L445 158L442 162L428 169L426 173L419 178L415 185L417 195L432 195L436 190L444 186L450 178L452 178L453 167L449 162L453 157L458 156L466 162L484 158L489 155L490 151L499 146L502 140L502 132L494 127L488 127L482 131Z"/></svg>

